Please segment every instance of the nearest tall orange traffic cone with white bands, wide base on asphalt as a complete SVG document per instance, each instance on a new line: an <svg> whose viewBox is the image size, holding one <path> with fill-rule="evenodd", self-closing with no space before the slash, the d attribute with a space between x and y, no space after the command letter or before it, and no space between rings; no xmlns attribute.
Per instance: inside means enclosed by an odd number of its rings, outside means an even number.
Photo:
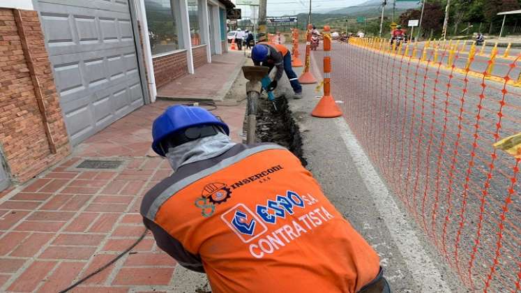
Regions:
<svg viewBox="0 0 521 293"><path fill-rule="evenodd" d="M315 109L311 112L311 116L320 118L334 118L342 116L340 108L335 103L335 99L331 96L331 35L329 34L330 27L324 27L324 96L320 99Z"/></svg>

